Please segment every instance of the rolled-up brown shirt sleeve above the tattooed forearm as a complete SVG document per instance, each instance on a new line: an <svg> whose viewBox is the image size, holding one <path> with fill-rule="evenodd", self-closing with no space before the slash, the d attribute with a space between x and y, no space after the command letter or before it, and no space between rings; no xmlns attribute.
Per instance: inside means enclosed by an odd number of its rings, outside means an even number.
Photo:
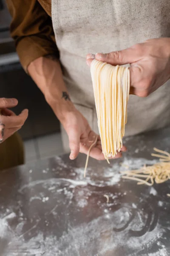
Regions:
<svg viewBox="0 0 170 256"><path fill-rule="evenodd" d="M20 62L27 72L36 58L55 55L59 51L55 42L51 17L37 0L6 0L12 16L10 31L14 38Z"/></svg>

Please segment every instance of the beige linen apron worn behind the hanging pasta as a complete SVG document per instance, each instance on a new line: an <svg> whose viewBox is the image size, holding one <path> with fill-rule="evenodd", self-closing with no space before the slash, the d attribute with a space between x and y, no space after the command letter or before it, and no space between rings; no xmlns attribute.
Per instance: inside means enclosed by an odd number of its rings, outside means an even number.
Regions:
<svg viewBox="0 0 170 256"><path fill-rule="evenodd" d="M170 0L52 0L52 22L72 101L98 132L86 54L170 37ZM146 98L130 96L125 135L170 123L170 81ZM68 148L65 133L64 147Z"/></svg>

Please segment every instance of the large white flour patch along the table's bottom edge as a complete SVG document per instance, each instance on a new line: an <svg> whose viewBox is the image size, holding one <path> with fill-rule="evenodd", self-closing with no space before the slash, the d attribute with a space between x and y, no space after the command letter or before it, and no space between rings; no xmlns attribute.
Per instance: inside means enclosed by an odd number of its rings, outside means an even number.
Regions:
<svg viewBox="0 0 170 256"><path fill-rule="evenodd" d="M117 249L122 248L122 255L126 256L131 256L132 252L138 252L138 254L134 255L141 256L167 256L165 248L158 248L157 253L154 254L149 253L153 244L163 235L163 230L161 230L159 225L157 225L152 233L147 232L144 236L137 238L127 236L128 231L135 228L134 223L130 224L127 230L121 232L113 231L115 227L118 227L115 226L115 218L120 221L119 226L124 225L128 221L129 213L127 210L123 208L110 213L109 218L107 218L108 214L105 214L87 224L70 227L68 232L63 233L59 239L56 236L44 238L43 234L39 233L34 239L22 242L20 244L20 252L24 251L27 253L26 255L32 253L36 256L94 256L95 248L101 256L113 255L109 254L109 252L113 252L114 256L119 256ZM140 253L144 247L147 247L147 254ZM10 256L15 256L15 254L10 254Z"/></svg>

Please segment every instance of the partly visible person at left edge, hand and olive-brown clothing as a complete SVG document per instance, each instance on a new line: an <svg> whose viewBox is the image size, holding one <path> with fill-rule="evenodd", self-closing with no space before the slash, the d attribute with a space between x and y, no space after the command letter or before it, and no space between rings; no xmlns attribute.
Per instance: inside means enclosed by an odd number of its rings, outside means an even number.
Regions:
<svg viewBox="0 0 170 256"><path fill-rule="evenodd" d="M23 142L17 131L26 121L28 110L17 116L9 109L17 104L17 99L0 98L0 170L24 163Z"/></svg>

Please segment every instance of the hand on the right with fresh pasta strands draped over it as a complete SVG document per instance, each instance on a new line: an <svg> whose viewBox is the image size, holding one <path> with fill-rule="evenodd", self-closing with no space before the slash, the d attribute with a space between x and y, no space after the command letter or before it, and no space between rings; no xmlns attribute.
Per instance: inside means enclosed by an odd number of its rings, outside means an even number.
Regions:
<svg viewBox="0 0 170 256"><path fill-rule="evenodd" d="M87 55L90 66L92 54ZM98 61L130 64L130 94L146 97L170 79L170 38L150 39L122 51L97 53Z"/></svg>

